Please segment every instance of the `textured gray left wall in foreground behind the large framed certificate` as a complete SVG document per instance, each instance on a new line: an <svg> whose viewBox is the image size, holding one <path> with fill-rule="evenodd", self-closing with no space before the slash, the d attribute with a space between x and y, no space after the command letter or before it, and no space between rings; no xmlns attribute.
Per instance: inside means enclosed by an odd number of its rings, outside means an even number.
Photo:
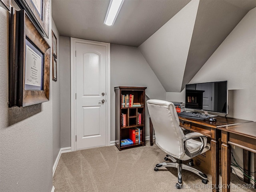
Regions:
<svg viewBox="0 0 256 192"><path fill-rule="evenodd" d="M50 101L24 108L8 108L7 15L8 12L0 7L0 191L50 192L52 81ZM50 31L51 23L50 20ZM51 45L51 35L46 40Z"/></svg>

